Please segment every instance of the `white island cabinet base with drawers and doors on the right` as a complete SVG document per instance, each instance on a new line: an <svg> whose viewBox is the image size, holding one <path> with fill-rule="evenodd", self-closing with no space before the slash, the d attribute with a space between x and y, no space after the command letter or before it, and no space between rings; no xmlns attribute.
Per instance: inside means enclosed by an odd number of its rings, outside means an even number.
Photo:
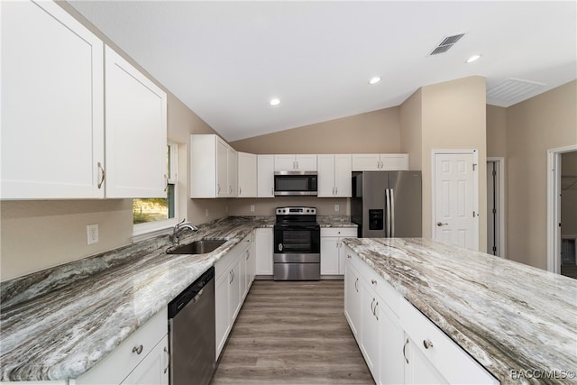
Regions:
<svg viewBox="0 0 577 385"><path fill-rule="evenodd" d="M344 245L344 315L378 384L499 383Z"/></svg>

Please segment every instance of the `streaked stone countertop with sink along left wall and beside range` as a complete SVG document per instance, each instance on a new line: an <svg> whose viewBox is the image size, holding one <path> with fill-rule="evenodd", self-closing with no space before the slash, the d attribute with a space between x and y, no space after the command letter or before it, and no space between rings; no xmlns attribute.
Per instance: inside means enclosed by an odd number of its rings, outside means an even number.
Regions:
<svg viewBox="0 0 577 385"><path fill-rule="evenodd" d="M323 227L355 226L319 215ZM74 379L188 288L256 227L275 217L232 216L180 243L226 239L214 252L169 255L169 236L0 282L0 380Z"/></svg>

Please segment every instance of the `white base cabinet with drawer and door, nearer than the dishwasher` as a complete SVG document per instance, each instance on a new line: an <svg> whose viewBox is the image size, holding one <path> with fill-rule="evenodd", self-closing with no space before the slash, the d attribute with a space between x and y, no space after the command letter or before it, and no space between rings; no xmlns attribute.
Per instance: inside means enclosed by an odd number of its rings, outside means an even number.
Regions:
<svg viewBox="0 0 577 385"><path fill-rule="evenodd" d="M103 361L70 385L85 384L168 384L168 316L164 308Z"/></svg>

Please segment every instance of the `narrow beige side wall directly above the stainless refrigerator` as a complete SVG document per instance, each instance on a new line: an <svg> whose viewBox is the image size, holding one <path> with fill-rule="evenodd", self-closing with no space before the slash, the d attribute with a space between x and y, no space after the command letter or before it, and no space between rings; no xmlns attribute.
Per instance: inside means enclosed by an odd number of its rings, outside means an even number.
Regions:
<svg viewBox="0 0 577 385"><path fill-rule="evenodd" d="M400 152L408 153L410 170L423 167L423 99L421 88L400 105Z"/></svg>

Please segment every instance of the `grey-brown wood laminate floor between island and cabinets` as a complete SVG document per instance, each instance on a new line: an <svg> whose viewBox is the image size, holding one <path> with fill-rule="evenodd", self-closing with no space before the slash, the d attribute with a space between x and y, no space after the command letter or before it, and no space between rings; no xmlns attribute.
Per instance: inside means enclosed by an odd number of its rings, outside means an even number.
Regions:
<svg viewBox="0 0 577 385"><path fill-rule="evenodd" d="M343 315L343 280L255 280L212 384L374 384Z"/></svg>

